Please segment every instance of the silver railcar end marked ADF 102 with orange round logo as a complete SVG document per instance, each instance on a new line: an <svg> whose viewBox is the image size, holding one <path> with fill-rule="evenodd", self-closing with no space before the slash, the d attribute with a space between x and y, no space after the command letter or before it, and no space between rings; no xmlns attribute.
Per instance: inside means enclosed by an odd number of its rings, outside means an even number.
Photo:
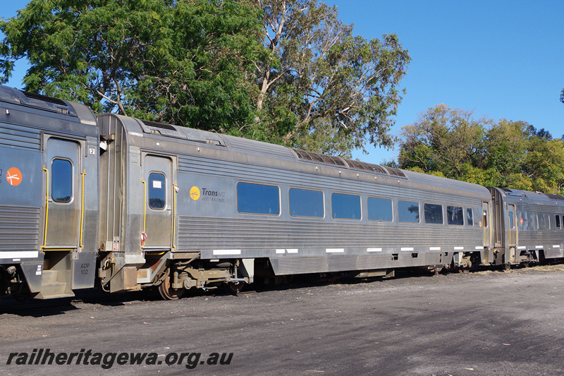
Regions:
<svg viewBox="0 0 564 376"><path fill-rule="evenodd" d="M0 86L0 295L94 284L98 145L84 105Z"/></svg>

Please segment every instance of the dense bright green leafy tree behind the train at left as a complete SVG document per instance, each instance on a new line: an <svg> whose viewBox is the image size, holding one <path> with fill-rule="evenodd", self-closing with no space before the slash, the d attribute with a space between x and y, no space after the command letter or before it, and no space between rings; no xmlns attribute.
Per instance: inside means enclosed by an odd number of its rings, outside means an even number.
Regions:
<svg viewBox="0 0 564 376"><path fill-rule="evenodd" d="M247 71L259 12L235 0L32 0L2 20L4 79L30 60L25 89L217 131L254 117Z"/></svg>

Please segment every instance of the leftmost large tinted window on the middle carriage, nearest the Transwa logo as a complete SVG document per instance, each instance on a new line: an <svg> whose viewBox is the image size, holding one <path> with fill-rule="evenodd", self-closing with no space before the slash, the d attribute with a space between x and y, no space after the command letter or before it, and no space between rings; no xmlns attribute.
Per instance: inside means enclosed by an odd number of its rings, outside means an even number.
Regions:
<svg viewBox="0 0 564 376"><path fill-rule="evenodd" d="M249 214L280 214L278 187L237 183L237 210Z"/></svg>

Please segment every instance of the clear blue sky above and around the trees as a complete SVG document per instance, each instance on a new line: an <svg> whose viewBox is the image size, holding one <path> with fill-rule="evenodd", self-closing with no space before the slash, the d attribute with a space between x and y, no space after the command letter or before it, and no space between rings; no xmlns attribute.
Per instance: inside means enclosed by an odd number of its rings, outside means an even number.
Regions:
<svg viewBox="0 0 564 376"><path fill-rule="evenodd" d="M27 0L1 0L0 17ZM564 134L563 0L327 0L367 39L398 35L412 61L400 87L407 94L392 133L436 104L475 116L527 121L555 138ZM21 87L19 63L8 83ZM364 162L396 159L397 149L353 153Z"/></svg>

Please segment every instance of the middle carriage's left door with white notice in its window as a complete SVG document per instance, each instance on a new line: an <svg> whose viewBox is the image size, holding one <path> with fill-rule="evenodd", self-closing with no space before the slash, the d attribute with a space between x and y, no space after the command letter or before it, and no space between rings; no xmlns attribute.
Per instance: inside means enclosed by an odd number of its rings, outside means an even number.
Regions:
<svg viewBox="0 0 564 376"><path fill-rule="evenodd" d="M143 161L145 181L143 248L172 248L173 228L173 169L166 157L145 155Z"/></svg>

